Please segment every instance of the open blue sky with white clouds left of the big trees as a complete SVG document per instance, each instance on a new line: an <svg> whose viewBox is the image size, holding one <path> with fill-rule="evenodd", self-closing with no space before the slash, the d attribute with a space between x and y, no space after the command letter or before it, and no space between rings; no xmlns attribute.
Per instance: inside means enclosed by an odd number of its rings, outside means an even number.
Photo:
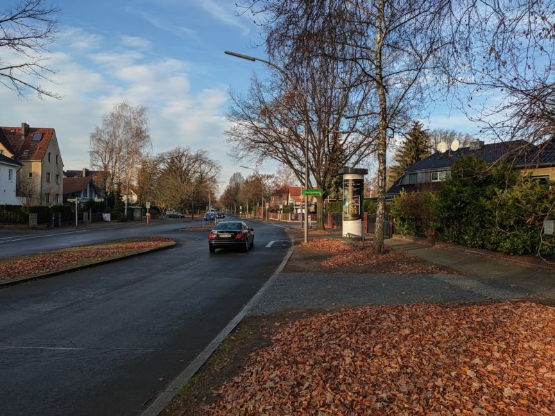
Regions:
<svg viewBox="0 0 555 416"><path fill-rule="evenodd" d="M10 3L14 0L8 0ZM263 64L224 55L226 49L264 58L258 28L237 16L230 0L64 0L60 40L50 46L61 100L18 100L0 89L0 125L55 128L65 169L89 167L89 134L114 103L148 108L153 153L176 146L204 149L219 160L221 190L232 173L251 173L227 156L228 90L246 92ZM463 116L430 119L430 128L468 130ZM427 124L425 122L425 124ZM470 132L470 131L469 131ZM261 171L273 173L276 165Z"/></svg>

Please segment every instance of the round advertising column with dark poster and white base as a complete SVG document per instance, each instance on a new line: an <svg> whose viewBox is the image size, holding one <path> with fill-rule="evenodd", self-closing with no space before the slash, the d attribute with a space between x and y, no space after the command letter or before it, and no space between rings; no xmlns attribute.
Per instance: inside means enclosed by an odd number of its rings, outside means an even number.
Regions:
<svg viewBox="0 0 555 416"><path fill-rule="evenodd" d="M368 169L343 168L343 236L364 234L362 208L364 205L364 175Z"/></svg>

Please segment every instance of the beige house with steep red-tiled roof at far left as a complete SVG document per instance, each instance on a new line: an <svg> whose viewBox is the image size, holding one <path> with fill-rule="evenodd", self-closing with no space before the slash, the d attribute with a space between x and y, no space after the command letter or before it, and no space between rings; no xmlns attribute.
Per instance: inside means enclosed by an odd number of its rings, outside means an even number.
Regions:
<svg viewBox="0 0 555 416"><path fill-rule="evenodd" d="M1 130L7 139L0 140L3 155L23 165L17 177L19 196L26 198L28 205L61 204L64 164L56 130L31 128L27 123Z"/></svg>

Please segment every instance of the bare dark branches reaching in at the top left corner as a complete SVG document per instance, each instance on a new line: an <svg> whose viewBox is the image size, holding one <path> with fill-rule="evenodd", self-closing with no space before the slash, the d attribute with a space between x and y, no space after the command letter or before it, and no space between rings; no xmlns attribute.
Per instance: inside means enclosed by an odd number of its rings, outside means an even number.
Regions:
<svg viewBox="0 0 555 416"><path fill-rule="evenodd" d="M26 90L37 93L39 98L60 98L35 83L52 83L55 73L46 66L49 58L46 47L56 41L60 9L46 6L43 0L22 0L15 6L0 10L0 84L22 98Z"/></svg>

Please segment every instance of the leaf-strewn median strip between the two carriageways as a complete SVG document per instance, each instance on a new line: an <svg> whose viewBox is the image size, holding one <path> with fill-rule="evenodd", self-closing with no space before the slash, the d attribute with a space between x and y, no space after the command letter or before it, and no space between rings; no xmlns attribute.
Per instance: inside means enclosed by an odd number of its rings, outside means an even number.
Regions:
<svg viewBox="0 0 555 416"><path fill-rule="evenodd" d="M81 245L15 259L4 259L0 261L0 283L124 257L167 245L173 245L173 241L164 237L146 237L95 245Z"/></svg>

